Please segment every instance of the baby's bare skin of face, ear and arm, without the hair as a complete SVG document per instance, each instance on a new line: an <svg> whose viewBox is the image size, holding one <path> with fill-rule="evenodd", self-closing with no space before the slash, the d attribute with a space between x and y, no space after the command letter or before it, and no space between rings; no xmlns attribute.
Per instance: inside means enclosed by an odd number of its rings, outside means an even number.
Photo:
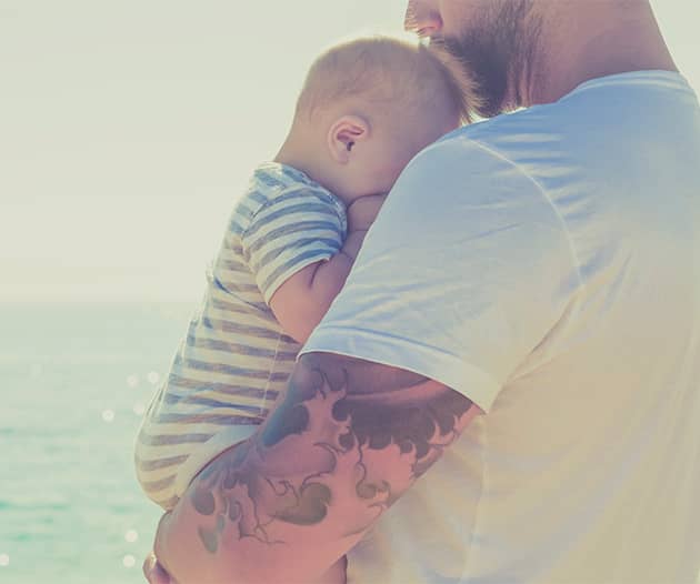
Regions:
<svg viewBox="0 0 700 584"><path fill-rule="evenodd" d="M449 101L444 88L433 92ZM329 104L311 118L298 115L276 158L348 205L348 235L340 253L300 270L270 300L284 332L301 343L343 286L384 193L418 152L459 127L454 108L424 108L417 119L410 114L418 108L404 107L402 113L402 120L381 115L361 101Z"/></svg>

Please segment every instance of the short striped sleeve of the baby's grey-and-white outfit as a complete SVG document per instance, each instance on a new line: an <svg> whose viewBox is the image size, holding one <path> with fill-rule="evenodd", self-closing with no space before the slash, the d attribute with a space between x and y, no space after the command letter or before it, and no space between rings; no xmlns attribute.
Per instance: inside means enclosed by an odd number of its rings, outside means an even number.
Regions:
<svg viewBox="0 0 700 584"><path fill-rule="evenodd" d="M344 205L326 192L300 187L262 205L241 241L264 301L303 268L336 255L346 232Z"/></svg>

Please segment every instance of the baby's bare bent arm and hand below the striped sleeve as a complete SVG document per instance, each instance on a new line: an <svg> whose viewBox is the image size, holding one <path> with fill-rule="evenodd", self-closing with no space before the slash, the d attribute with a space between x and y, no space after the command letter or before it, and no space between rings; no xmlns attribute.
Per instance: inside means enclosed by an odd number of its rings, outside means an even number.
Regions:
<svg viewBox="0 0 700 584"><path fill-rule="evenodd" d="M270 299L270 308L287 334L303 343L336 299L374 222L386 195L362 197L348 208L348 236L330 260L308 265L289 278Z"/></svg>

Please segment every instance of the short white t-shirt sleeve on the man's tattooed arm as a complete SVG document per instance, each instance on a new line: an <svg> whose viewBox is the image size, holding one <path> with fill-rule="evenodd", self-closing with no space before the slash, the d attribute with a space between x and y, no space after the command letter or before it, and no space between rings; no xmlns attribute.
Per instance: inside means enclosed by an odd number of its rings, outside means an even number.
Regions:
<svg viewBox="0 0 700 584"><path fill-rule="evenodd" d="M450 139L397 181L303 352L412 371L488 412L562 318L577 274L538 184L480 144Z"/></svg>

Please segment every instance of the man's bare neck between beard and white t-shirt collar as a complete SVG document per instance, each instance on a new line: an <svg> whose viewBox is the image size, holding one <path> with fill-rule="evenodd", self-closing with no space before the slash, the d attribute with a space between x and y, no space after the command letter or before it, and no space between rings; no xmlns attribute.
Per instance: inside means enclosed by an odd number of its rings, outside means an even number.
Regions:
<svg viewBox="0 0 700 584"><path fill-rule="evenodd" d="M646 1L569 2L543 18L531 74L520 80L521 105L552 103L578 85L631 71L678 71Z"/></svg>

